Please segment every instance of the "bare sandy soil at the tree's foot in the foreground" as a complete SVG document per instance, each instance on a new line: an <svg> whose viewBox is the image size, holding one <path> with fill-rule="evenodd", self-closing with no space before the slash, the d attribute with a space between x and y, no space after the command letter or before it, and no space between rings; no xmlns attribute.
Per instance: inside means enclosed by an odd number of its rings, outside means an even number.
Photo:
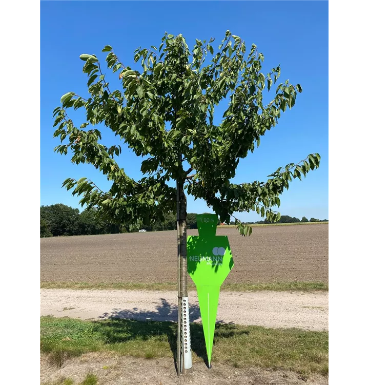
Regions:
<svg viewBox="0 0 368 385"><path fill-rule="evenodd" d="M40 380L44 385L62 384L66 378L81 383L93 373L101 385L327 385L328 378L313 375L304 378L291 372L258 368L232 368L216 363L209 370L204 363L195 363L193 373L178 378L169 358L145 360L118 357L112 354L88 353L68 360L62 368L49 364L47 356L40 359ZM65 382L64 382L65 383Z"/></svg>

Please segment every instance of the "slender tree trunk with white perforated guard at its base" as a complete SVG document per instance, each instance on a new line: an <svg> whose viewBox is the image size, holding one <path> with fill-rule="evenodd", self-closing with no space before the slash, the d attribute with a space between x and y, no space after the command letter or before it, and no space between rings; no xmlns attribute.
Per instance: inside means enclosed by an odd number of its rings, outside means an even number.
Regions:
<svg viewBox="0 0 368 385"><path fill-rule="evenodd" d="M192 347L188 303L187 271L187 197L184 183L176 182L176 227L178 243L178 375L192 371Z"/></svg>

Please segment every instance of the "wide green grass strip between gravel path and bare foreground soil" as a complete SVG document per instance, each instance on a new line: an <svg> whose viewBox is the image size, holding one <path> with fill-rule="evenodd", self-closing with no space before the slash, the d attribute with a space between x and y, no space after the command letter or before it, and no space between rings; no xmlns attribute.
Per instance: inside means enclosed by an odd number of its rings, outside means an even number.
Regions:
<svg viewBox="0 0 368 385"><path fill-rule="evenodd" d="M201 324L191 324L193 361L206 360ZM111 319L82 321L71 318L40 319L40 349L57 366L88 352L114 352L147 359L170 357L176 352L176 324ZM212 362L235 368L259 367L292 370L308 376L328 375L329 334L299 329L217 324ZM93 382L85 382L90 385Z"/></svg>

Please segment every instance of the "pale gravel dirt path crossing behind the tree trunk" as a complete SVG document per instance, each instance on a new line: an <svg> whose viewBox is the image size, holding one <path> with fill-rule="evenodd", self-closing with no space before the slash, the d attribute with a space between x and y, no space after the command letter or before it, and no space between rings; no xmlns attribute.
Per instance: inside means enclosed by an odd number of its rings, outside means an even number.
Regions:
<svg viewBox="0 0 368 385"><path fill-rule="evenodd" d="M190 320L200 321L196 292L189 293ZM41 315L81 319L109 317L176 321L176 292L40 290ZM328 293L220 293L217 321L269 328L329 329Z"/></svg>

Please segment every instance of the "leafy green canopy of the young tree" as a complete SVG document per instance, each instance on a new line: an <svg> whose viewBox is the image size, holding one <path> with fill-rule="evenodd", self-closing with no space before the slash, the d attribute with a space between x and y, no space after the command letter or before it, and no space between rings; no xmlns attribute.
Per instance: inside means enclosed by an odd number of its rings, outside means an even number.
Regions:
<svg viewBox="0 0 368 385"><path fill-rule="evenodd" d="M276 85L280 66L264 74L264 57L256 45L246 54L244 41L230 31L218 49L213 42L214 38L196 40L190 50L183 36L166 33L158 48L135 51L141 70L125 66L113 48L105 46L107 67L121 81L118 90L110 90L96 55L80 55L89 97L63 95L62 106L54 110L54 136L67 142L55 150L71 151L73 163L92 164L112 181L111 188L103 191L87 178L67 179L64 186L82 196L81 204L97 207L101 215L119 224L149 225L176 211L176 188L168 183L174 180L185 186L187 194L205 200L221 222L230 223L234 213L251 210L269 221L280 219L273 210L280 206L279 196L290 181L318 168L318 153L279 167L266 181L234 184L231 180L240 159L260 145L282 112L294 107L302 88L288 80ZM274 97L263 103L264 93L272 89ZM228 108L216 123L215 107L225 99ZM70 108L86 112L86 122L79 128L67 114ZM98 125L110 128L145 158L140 180L130 178L118 164L119 144L101 143ZM180 202L183 197L181 191ZM249 225L234 219L242 235L251 233Z"/></svg>

